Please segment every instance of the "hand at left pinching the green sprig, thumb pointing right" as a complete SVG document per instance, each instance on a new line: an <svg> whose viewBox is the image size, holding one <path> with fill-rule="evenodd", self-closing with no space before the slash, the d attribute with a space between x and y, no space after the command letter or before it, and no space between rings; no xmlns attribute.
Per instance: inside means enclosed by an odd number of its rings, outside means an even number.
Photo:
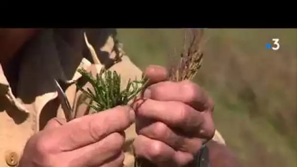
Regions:
<svg viewBox="0 0 297 167"><path fill-rule="evenodd" d="M68 123L52 119L28 140L19 167L122 167L124 130L134 119L127 106Z"/></svg>

